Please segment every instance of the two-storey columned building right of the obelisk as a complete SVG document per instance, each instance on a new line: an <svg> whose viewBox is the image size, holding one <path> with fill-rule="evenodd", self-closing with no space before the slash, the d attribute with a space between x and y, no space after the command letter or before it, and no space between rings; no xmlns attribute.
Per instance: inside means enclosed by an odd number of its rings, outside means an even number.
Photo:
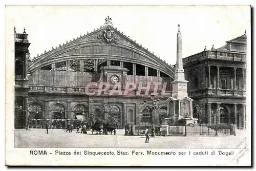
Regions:
<svg viewBox="0 0 256 171"><path fill-rule="evenodd" d="M199 122L246 127L246 32L221 48L212 45L184 58L183 68L194 109L202 109L194 113Z"/></svg>

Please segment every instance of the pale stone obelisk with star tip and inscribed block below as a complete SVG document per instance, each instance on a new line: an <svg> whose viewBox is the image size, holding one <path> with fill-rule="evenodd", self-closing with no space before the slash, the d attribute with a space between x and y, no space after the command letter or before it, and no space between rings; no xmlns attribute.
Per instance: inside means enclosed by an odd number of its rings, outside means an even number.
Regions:
<svg viewBox="0 0 256 171"><path fill-rule="evenodd" d="M187 80L184 78L183 62L182 62L182 39L180 32L180 25L177 33L177 59L174 81L172 82L173 94L172 97L181 99L187 97Z"/></svg>

